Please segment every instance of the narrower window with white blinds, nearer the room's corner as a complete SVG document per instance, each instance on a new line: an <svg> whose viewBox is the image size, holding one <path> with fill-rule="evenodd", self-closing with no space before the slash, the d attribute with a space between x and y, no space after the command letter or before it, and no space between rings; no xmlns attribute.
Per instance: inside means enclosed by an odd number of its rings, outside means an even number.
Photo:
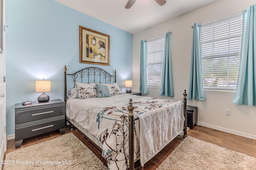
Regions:
<svg viewBox="0 0 256 170"><path fill-rule="evenodd" d="M160 87L164 62L164 36L147 42L147 84Z"/></svg>

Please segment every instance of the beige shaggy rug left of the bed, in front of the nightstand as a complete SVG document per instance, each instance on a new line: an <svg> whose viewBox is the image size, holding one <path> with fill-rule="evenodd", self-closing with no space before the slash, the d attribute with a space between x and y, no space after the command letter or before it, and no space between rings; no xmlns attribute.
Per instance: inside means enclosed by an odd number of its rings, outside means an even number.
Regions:
<svg viewBox="0 0 256 170"><path fill-rule="evenodd" d="M107 170L73 133L6 154L4 170Z"/></svg>

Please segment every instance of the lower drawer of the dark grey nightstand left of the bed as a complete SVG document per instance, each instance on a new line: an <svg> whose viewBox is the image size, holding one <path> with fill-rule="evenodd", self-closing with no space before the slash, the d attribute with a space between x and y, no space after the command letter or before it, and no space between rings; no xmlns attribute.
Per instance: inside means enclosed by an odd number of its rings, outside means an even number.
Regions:
<svg viewBox="0 0 256 170"><path fill-rule="evenodd" d="M65 115L15 125L15 141L64 128Z"/></svg>

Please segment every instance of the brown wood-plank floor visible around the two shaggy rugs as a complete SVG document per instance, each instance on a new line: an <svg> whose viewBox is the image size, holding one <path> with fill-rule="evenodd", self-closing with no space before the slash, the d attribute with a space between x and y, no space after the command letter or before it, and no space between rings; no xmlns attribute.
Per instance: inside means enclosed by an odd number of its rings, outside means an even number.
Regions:
<svg viewBox="0 0 256 170"><path fill-rule="evenodd" d="M74 133L80 140L82 140L82 142L84 142L84 144L86 144L86 146L88 146L88 148L90 148L96 154L96 156L98 156L100 160L106 164L106 160L104 160L104 158L101 156L101 152L94 148L92 144L90 144L90 142L83 137L82 133L80 133L78 130L71 130L70 127L66 127L65 134L70 132ZM50 140L58 136L61 136L61 134L58 130L56 130L54 132L49 132L32 138L24 139L21 148ZM214 130L202 126L195 126L192 130L188 130L188 136L192 136L200 140L204 140L206 142L210 142L218 146L241 152L256 158L256 140L250 138L221 132L219 130ZM163 162L164 159L172 152L172 150L174 150L176 146L182 142L182 140L182 137L176 137L174 140L172 140L170 144L168 144L154 158L152 158L152 160L148 161L144 165L144 170L155 170L161 164L161 162ZM15 149L14 139L8 140L6 153L12 152L14 150L17 150ZM138 169L142 170L142 167L139 167Z"/></svg>

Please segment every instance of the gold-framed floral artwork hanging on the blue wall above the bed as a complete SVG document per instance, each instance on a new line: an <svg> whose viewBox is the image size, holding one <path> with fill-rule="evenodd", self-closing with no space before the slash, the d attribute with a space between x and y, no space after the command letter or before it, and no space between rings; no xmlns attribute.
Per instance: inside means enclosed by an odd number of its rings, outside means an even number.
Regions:
<svg viewBox="0 0 256 170"><path fill-rule="evenodd" d="M80 63L110 65L110 36L79 26Z"/></svg>

